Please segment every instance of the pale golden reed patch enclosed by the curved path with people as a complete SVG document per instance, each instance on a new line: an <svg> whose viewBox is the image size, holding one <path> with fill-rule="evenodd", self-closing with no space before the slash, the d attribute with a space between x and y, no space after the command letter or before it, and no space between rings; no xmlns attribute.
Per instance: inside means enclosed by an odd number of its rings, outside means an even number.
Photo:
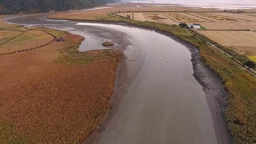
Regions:
<svg viewBox="0 0 256 144"><path fill-rule="evenodd" d="M42 31L28 31L24 34L2 44L0 46L0 54L16 52L19 50L27 50L48 44L53 37Z"/></svg>

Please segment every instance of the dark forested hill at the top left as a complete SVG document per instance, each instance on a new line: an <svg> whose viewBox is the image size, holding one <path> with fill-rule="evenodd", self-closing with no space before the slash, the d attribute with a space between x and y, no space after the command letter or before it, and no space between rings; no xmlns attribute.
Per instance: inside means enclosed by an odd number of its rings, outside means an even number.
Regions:
<svg viewBox="0 0 256 144"><path fill-rule="evenodd" d="M116 0L0 0L0 14L24 14L91 8Z"/></svg>

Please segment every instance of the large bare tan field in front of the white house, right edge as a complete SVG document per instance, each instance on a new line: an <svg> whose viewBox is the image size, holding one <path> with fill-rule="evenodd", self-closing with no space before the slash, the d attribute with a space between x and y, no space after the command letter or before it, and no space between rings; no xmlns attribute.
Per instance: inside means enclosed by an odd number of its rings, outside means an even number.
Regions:
<svg viewBox="0 0 256 144"><path fill-rule="evenodd" d="M234 49L239 54L256 56L256 32L252 31L198 31L211 40Z"/></svg>

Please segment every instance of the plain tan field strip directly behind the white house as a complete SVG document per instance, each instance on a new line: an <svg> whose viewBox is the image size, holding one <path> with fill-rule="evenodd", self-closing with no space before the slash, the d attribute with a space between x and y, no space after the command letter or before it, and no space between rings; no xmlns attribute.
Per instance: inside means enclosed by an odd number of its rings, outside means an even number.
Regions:
<svg viewBox="0 0 256 144"><path fill-rule="evenodd" d="M244 22L242 22L244 23ZM187 23L193 24L193 23ZM200 22L200 24L207 30L246 30L242 26L238 26L232 22Z"/></svg>

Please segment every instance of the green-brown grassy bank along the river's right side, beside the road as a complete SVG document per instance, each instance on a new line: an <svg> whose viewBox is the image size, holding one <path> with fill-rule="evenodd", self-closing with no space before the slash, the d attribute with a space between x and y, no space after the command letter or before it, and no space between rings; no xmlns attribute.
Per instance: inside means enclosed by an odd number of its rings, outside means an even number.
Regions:
<svg viewBox="0 0 256 144"><path fill-rule="evenodd" d="M193 44L199 48L200 56L206 64L214 70L222 79L228 90L228 108L226 110L226 120L233 136L235 144L252 144L256 142L256 78L242 70L239 66L230 62L216 50L210 48L204 41L195 34L190 34L181 28L156 24L152 22L129 21L128 24L152 28L167 34L171 34L181 40ZM205 40L211 42L208 38ZM232 50L222 47L225 51ZM237 58L246 60L246 57Z"/></svg>

